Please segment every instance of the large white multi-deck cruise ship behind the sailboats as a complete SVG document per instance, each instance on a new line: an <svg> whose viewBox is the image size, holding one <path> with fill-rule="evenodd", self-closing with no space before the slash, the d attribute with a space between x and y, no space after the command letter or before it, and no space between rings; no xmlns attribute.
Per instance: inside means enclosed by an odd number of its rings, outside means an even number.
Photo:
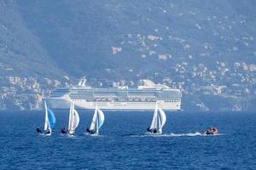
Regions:
<svg viewBox="0 0 256 170"><path fill-rule="evenodd" d="M68 109L73 100L79 109L108 111L152 111L157 104L166 111L181 109L182 94L163 84L155 84L150 80L141 80L137 88L113 86L111 88L92 88L86 85L86 79L70 88L57 88L47 98L52 109Z"/></svg>

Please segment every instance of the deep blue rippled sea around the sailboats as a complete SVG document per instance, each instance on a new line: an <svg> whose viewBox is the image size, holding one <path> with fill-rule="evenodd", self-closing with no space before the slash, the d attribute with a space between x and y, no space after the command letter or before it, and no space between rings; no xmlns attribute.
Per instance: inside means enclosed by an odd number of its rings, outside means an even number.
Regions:
<svg viewBox="0 0 256 170"><path fill-rule="evenodd" d="M36 133L44 111L0 112L0 169L256 169L256 114L167 112L163 135L147 136L153 112L105 112L100 136L84 135L93 111L79 111L75 137ZM219 135L203 136L207 127Z"/></svg>

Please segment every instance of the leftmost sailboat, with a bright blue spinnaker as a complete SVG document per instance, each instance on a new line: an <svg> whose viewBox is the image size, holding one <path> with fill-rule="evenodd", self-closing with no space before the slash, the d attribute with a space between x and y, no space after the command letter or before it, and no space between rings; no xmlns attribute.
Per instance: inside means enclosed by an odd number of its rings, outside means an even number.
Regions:
<svg viewBox="0 0 256 170"><path fill-rule="evenodd" d="M55 114L53 111L47 108L46 102L44 101L44 107L45 107L45 122L44 122L44 133L47 136L51 135L52 128L55 127Z"/></svg>

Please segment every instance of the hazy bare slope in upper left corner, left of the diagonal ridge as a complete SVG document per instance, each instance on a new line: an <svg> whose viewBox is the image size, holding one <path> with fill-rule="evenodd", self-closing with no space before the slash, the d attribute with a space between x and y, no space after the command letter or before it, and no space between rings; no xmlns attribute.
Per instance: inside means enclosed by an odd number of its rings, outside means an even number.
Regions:
<svg viewBox="0 0 256 170"><path fill-rule="evenodd" d="M38 37L26 28L15 2L0 2L0 62L5 76L61 77ZM8 68L8 69L6 69Z"/></svg>

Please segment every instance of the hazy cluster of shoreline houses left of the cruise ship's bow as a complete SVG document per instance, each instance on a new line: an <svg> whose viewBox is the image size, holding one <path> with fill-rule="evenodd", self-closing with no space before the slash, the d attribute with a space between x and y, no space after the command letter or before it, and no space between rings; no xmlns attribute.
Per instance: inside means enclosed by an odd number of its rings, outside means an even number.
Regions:
<svg viewBox="0 0 256 170"><path fill-rule="evenodd" d="M61 82L38 77L3 77L0 81L0 110L38 110L44 96Z"/></svg>

